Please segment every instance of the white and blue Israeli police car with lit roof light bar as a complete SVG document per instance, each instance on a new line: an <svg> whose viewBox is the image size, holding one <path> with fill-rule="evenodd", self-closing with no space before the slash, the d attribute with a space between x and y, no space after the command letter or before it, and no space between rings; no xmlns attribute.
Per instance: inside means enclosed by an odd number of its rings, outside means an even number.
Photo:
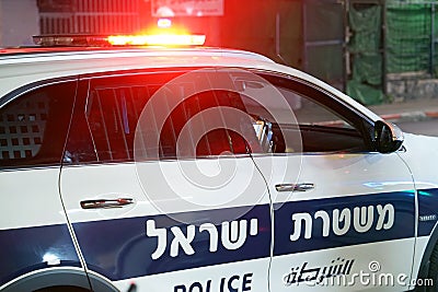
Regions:
<svg viewBox="0 0 438 292"><path fill-rule="evenodd" d="M436 138L261 55L173 46L199 35L36 40L0 52L1 291L437 281Z"/></svg>

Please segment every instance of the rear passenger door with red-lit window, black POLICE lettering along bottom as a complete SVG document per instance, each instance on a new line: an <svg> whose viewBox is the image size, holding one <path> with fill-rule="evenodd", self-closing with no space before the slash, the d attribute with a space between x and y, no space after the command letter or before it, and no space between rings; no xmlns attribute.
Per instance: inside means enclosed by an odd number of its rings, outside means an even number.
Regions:
<svg viewBox="0 0 438 292"><path fill-rule="evenodd" d="M227 122L254 128L210 73L82 77L60 190L95 283L267 291L270 201Z"/></svg>

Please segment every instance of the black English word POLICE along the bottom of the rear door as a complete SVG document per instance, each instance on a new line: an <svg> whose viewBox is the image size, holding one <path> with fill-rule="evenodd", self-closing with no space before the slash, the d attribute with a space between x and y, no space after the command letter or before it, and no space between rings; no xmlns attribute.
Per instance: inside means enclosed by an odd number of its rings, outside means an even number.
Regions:
<svg viewBox="0 0 438 292"><path fill-rule="evenodd" d="M239 275L230 278L221 278L218 282L207 280L205 283L193 282L192 284L175 285L173 292L246 292L252 291L253 273Z"/></svg>

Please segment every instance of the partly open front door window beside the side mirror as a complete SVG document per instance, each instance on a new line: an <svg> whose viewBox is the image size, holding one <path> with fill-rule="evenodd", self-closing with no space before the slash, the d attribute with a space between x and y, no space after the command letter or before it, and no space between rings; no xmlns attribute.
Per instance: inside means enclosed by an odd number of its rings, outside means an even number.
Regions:
<svg viewBox="0 0 438 292"><path fill-rule="evenodd" d="M268 152L355 153L371 149L370 124L336 98L298 80L261 77L266 80L264 86L275 87L275 98L263 104L250 101L247 108L265 125Z"/></svg>

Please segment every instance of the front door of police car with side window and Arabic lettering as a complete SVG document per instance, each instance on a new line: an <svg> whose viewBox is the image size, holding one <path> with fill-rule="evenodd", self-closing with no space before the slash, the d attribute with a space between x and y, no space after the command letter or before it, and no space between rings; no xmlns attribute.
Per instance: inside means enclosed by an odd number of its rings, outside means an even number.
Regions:
<svg viewBox="0 0 438 292"><path fill-rule="evenodd" d="M277 91L250 110L268 141L253 159L274 206L272 291L407 289L415 190L405 163L373 150L373 122L353 102L298 78L260 77L243 93Z"/></svg>

